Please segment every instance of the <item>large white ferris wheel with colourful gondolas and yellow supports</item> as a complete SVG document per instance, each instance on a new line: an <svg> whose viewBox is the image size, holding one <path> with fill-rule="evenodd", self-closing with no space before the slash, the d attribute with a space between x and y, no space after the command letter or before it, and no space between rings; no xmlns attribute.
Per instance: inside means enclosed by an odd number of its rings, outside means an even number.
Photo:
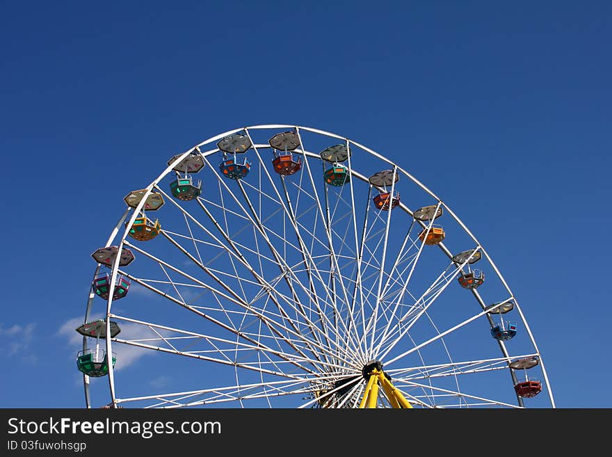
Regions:
<svg viewBox="0 0 612 457"><path fill-rule="evenodd" d="M88 408L555 407L517 297L401 164L296 125L168 155L92 252Z"/></svg>

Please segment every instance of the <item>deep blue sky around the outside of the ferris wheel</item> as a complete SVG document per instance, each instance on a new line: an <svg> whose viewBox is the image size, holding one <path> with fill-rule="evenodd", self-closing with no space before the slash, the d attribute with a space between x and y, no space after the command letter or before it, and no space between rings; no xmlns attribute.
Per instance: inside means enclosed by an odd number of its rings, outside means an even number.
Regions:
<svg viewBox="0 0 612 457"><path fill-rule="evenodd" d="M124 196L261 124L351 138L426 184L513 289L556 406L612 406L608 2L1 10L1 407L83 406L74 328Z"/></svg>

